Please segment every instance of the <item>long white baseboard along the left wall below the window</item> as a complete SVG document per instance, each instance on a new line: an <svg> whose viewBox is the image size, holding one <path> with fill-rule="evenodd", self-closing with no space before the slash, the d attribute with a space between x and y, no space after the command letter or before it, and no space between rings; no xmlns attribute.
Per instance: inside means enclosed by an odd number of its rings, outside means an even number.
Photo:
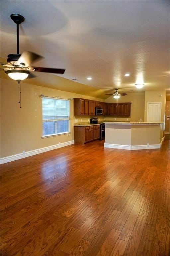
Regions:
<svg viewBox="0 0 170 256"><path fill-rule="evenodd" d="M48 146L48 147L44 147L44 148L27 151L27 152L25 152L25 154L20 153L20 154L16 154L16 155L12 155L12 156L2 157L2 158L0 158L0 164L5 164L5 163L15 161L18 159L22 159L22 158L25 158L28 156L34 156L34 155L37 155L37 154L40 154L40 153L43 153L46 151L50 151L50 150L57 149L57 148L62 148L62 147L69 146L72 144L74 144L74 140L63 142L63 143L52 145L52 146Z"/></svg>

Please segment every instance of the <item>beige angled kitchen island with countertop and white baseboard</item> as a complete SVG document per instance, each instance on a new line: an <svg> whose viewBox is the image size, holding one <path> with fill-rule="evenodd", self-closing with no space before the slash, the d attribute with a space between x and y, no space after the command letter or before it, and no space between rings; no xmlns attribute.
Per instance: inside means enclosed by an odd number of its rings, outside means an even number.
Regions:
<svg viewBox="0 0 170 256"><path fill-rule="evenodd" d="M105 122L105 148L156 149L163 140L162 123Z"/></svg>

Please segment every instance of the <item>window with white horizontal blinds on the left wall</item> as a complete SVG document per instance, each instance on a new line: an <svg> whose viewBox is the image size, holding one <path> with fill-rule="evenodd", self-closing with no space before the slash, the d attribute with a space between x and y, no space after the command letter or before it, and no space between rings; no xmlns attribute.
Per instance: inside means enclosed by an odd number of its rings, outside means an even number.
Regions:
<svg viewBox="0 0 170 256"><path fill-rule="evenodd" d="M70 131L69 100L42 97L42 136Z"/></svg>

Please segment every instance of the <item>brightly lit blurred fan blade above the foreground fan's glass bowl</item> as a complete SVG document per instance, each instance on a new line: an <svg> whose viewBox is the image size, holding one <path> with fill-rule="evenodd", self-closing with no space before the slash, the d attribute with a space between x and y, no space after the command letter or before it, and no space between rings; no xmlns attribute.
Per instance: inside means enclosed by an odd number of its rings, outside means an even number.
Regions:
<svg viewBox="0 0 170 256"><path fill-rule="evenodd" d="M19 57L17 64L22 64L23 66L30 66L33 62L38 61L39 59L42 59L41 55L38 55L34 52L24 51L21 56Z"/></svg>

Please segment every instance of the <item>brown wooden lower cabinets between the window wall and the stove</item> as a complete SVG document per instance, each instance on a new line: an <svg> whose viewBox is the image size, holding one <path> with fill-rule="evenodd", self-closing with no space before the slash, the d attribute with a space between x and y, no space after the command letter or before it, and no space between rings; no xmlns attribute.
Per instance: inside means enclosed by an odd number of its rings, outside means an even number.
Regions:
<svg viewBox="0 0 170 256"><path fill-rule="evenodd" d="M74 142L84 144L100 138L100 125L74 126Z"/></svg>

